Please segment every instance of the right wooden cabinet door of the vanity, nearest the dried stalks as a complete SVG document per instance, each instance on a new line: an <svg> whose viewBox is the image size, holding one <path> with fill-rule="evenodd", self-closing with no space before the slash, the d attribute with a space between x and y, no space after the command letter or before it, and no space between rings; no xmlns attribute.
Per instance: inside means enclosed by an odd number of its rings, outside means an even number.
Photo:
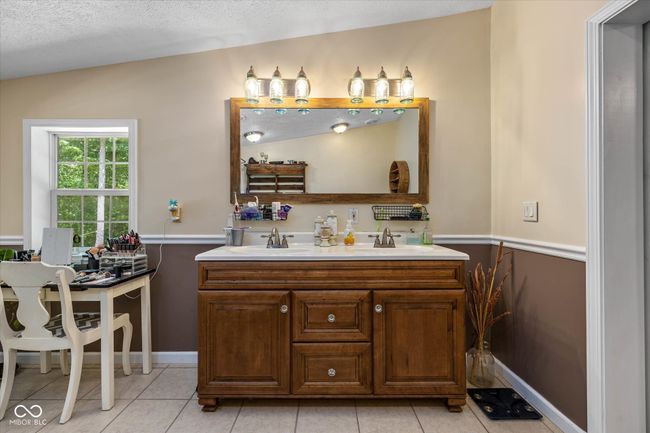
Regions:
<svg viewBox="0 0 650 433"><path fill-rule="evenodd" d="M376 394L465 393L463 290L376 290Z"/></svg>

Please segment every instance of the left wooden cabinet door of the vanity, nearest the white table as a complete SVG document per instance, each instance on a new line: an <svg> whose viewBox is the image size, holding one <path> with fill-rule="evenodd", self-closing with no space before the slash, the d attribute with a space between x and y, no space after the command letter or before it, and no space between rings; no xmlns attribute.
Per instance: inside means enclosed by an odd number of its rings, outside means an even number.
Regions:
<svg viewBox="0 0 650 433"><path fill-rule="evenodd" d="M199 291L199 394L289 393L288 291Z"/></svg>

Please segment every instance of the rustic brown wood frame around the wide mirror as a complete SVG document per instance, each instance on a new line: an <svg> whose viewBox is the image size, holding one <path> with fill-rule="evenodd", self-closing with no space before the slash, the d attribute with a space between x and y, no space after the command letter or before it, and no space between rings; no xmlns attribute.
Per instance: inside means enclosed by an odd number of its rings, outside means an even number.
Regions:
<svg viewBox="0 0 650 433"><path fill-rule="evenodd" d="M347 98L311 98L307 104L298 105L293 98L287 98L282 104L271 104L268 98L260 98L258 104L250 104L244 98L230 99L230 202L234 203L233 191L237 191L239 202L255 201L257 196L261 203L280 201L283 203L374 203L374 204L412 204L429 202L429 98L415 98L410 104L401 104L397 98L391 98L388 104L377 105L371 98L360 104L353 104ZM240 110L242 108L417 108L418 112L418 192L417 193L240 193L241 185L241 149L239 131ZM386 179L388 183L388 179Z"/></svg>

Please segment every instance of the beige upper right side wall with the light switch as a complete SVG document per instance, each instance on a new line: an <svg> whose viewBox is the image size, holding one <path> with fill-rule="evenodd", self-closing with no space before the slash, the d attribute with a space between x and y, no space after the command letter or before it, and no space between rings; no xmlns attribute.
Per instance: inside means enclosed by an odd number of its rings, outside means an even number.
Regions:
<svg viewBox="0 0 650 433"><path fill-rule="evenodd" d="M585 245L585 20L597 1L492 6L492 232ZM539 201L539 223L522 201Z"/></svg>

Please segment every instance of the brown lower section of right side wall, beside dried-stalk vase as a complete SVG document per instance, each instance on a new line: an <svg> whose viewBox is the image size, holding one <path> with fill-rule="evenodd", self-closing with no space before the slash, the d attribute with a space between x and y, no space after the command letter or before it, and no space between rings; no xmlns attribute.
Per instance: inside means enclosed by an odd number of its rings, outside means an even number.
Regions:
<svg viewBox="0 0 650 433"><path fill-rule="evenodd" d="M493 246L493 261L496 250ZM512 276L503 296L512 315L495 325L493 352L586 431L585 263L512 251Z"/></svg>

